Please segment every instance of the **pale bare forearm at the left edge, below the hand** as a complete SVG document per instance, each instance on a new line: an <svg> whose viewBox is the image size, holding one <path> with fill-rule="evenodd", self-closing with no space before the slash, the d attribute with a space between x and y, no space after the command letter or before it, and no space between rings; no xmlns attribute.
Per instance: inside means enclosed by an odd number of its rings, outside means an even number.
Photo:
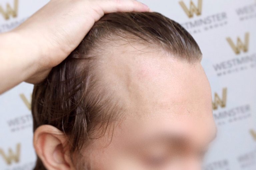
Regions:
<svg viewBox="0 0 256 170"><path fill-rule="evenodd" d="M0 34L0 94L33 75L37 69L36 48L15 32Z"/></svg>

